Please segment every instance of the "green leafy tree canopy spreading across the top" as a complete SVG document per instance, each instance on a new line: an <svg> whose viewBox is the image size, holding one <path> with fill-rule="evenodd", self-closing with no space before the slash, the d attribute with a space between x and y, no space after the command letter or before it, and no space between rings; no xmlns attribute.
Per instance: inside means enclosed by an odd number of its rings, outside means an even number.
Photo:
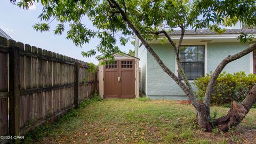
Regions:
<svg viewBox="0 0 256 144"><path fill-rule="evenodd" d="M11 2L15 2L11 0ZM17 5L28 9L39 0L22 0ZM90 57L100 52L97 59L111 58L111 53L119 52L115 45L119 41L122 45L129 42L134 35L131 28L123 20L122 15L110 0L41 0L42 13L38 16L39 22L33 27L36 31L49 31L54 27L54 34L60 35L65 30L65 23L69 24L67 39L76 46L89 43L90 39L101 39L97 47L91 47L90 51L83 55ZM218 33L223 33L223 26L231 26L241 21L249 26L255 26L255 1L179 1L179 0L117 0L127 18L147 41L158 38L152 34L158 30L166 30L170 33L173 28L210 28ZM58 25L52 26L52 20L58 21ZM88 21L98 30L87 27ZM122 35L118 35L121 33ZM252 41L252 36L242 34L239 37L242 42ZM162 39L166 41L166 38Z"/></svg>

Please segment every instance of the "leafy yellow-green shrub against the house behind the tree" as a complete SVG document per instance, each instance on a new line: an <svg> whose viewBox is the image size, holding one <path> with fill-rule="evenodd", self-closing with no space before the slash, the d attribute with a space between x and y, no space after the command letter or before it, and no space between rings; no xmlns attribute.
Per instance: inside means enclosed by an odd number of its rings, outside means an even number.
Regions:
<svg viewBox="0 0 256 144"><path fill-rule="evenodd" d="M198 89L195 94L201 100L204 97L211 75L212 73L197 78L197 81L194 82ZM256 75L246 75L242 71L234 74L224 72L217 79L211 102L213 105L226 105L230 104L231 101L241 102L255 83Z"/></svg>

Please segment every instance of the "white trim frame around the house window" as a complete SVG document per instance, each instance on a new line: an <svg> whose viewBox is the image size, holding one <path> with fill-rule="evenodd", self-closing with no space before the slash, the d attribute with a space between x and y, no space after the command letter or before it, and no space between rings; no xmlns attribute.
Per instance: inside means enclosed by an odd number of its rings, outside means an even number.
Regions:
<svg viewBox="0 0 256 144"><path fill-rule="evenodd" d="M204 76L207 74L207 42L184 42L181 45L204 45ZM178 44L176 43L176 46ZM175 75L179 77L177 60L175 59ZM195 80L189 80L189 83L194 83ZM184 82L182 80L182 82Z"/></svg>

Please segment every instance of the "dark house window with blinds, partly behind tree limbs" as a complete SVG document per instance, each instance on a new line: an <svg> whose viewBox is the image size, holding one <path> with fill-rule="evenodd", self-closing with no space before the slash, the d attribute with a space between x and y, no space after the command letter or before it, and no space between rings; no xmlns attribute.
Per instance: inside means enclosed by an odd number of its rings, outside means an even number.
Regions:
<svg viewBox="0 0 256 144"><path fill-rule="evenodd" d="M181 67L188 80L204 75L204 45L182 45L179 55ZM182 79L180 75L179 78Z"/></svg>

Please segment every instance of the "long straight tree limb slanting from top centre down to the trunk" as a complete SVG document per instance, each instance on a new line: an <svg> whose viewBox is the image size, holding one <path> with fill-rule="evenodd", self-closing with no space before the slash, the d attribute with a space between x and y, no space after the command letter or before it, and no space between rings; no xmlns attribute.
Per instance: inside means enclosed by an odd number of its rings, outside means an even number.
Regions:
<svg viewBox="0 0 256 144"><path fill-rule="evenodd" d="M166 67L166 65L163 63L163 61L159 58L159 56L156 54L156 52L152 49L152 47L146 42L146 40L141 36L137 28L131 23L131 21L127 18L127 15L125 12L121 9L119 4L115 0L109 0L111 3L113 3L117 9L121 12L123 20L127 23L128 27L132 29L133 33L140 39L141 43L146 47L148 52L153 55L155 60L157 61L158 65L161 66L161 68L165 71L166 74L168 74L180 87L181 89L186 93L189 100L192 102L192 105L196 108L196 110L199 110L199 102L197 98L195 97L194 93L191 92L188 87L183 84L180 79L172 73L172 71ZM175 44L174 44L175 46Z"/></svg>

